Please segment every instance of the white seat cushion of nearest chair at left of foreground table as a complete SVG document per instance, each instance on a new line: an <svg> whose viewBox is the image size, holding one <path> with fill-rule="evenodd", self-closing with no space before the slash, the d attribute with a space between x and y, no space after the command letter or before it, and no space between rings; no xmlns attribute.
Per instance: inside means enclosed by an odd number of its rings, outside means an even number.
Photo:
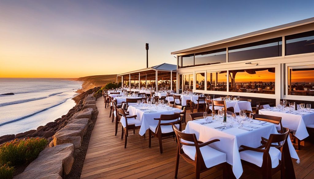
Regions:
<svg viewBox="0 0 314 179"><path fill-rule="evenodd" d="M182 142L192 143L192 142L184 141L184 140L182 140ZM195 146L182 145L182 149L184 153L187 154L187 156L189 156L192 160L195 160L195 153L196 153ZM207 168L226 162L227 155L223 152L220 152L209 146L200 147L199 149L201 150L203 160Z"/></svg>

